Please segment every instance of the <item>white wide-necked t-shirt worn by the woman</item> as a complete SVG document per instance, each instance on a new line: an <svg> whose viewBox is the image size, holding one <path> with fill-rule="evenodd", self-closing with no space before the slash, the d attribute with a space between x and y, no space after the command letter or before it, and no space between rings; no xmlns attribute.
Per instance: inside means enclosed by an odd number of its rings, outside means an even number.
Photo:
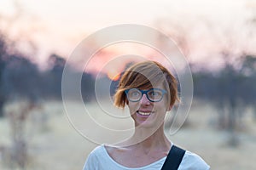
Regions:
<svg viewBox="0 0 256 170"><path fill-rule="evenodd" d="M163 157L159 161L154 161L144 167L125 167L114 161L113 158L108 155L108 151L104 145L100 145L90 152L90 155L84 163L83 170L160 170L165 161L166 157ZM210 169L210 167L200 156L189 151L185 152L183 160L178 167L178 170L208 169Z"/></svg>

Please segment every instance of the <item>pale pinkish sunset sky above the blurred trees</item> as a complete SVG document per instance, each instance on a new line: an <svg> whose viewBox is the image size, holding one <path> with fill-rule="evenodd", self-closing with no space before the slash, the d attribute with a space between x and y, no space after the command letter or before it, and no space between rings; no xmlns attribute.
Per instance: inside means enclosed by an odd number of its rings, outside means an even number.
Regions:
<svg viewBox="0 0 256 170"><path fill-rule="evenodd" d="M234 25L238 27L237 31L233 29L237 36L255 7L255 0L1 0L0 14L12 18L19 9L17 19L2 26L13 37L23 35L35 42L38 46L35 60L41 64L52 52L67 58L85 37L118 24L161 27L161 31L177 26L178 36L188 35L192 44L189 48L194 52L190 58L196 60L205 59L204 49L211 52L218 48L209 37L207 26L214 27L217 32L214 35L221 37L224 35L218 29L229 30Z"/></svg>

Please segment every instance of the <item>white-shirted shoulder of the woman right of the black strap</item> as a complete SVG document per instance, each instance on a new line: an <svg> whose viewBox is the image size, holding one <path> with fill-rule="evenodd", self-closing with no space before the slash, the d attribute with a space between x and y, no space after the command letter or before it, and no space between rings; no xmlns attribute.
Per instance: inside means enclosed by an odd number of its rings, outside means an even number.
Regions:
<svg viewBox="0 0 256 170"><path fill-rule="evenodd" d="M210 166L207 164L206 161L201 158L201 156L198 156L195 153L186 150L179 170L182 169L208 170L210 169Z"/></svg>

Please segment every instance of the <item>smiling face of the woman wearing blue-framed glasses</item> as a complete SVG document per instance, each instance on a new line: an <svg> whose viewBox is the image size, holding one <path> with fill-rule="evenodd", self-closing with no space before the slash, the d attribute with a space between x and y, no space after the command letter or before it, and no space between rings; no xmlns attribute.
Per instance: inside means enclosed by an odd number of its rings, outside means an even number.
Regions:
<svg viewBox="0 0 256 170"><path fill-rule="evenodd" d="M165 89L162 85L154 88ZM167 94L168 93L163 94L163 98L157 102L150 101L146 94L143 94L142 99L136 102L128 101L131 117L134 120L136 127L155 127L164 123L166 111L171 109L171 106L166 105Z"/></svg>

